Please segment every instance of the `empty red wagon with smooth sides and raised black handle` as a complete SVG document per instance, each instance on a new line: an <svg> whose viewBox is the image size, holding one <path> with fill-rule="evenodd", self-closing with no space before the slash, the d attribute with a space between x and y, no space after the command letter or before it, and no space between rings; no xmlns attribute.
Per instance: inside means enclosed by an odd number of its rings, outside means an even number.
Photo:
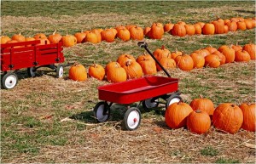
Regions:
<svg viewBox="0 0 256 164"><path fill-rule="evenodd" d="M159 61L148 50L146 42L138 42L141 48L145 48L158 65ZM160 65L168 77L144 76L126 82L117 82L98 87L98 97L102 101L94 108L96 120L106 122L110 115L110 107L113 103L129 105L140 101L145 110L157 107L164 99L166 108L172 103L182 100L178 92L178 79L172 78L169 73ZM138 106L137 106L138 107ZM137 107L131 107L125 112L123 127L127 130L135 130L141 122L141 112Z"/></svg>

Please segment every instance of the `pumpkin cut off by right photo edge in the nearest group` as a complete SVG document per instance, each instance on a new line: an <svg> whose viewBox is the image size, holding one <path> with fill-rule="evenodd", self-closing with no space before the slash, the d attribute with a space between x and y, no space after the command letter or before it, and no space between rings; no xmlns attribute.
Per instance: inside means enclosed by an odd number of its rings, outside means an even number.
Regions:
<svg viewBox="0 0 256 164"><path fill-rule="evenodd" d="M243 103L239 105L243 114L243 122L241 128L255 132L256 130L256 105Z"/></svg>

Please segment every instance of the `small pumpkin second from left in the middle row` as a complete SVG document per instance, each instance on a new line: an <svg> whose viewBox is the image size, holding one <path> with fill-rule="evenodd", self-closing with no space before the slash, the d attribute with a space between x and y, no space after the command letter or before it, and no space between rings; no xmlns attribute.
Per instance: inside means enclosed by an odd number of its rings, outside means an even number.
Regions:
<svg viewBox="0 0 256 164"><path fill-rule="evenodd" d="M88 69L88 74L89 76L102 81L105 76L105 69L102 67L102 65L93 64L90 65Z"/></svg>

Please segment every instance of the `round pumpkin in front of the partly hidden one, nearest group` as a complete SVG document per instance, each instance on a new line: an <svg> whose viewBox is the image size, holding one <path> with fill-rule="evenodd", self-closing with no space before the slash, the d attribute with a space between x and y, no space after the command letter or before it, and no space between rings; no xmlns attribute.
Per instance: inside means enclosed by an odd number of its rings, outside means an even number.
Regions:
<svg viewBox="0 0 256 164"><path fill-rule="evenodd" d="M211 127L211 118L206 111L194 110L187 117L187 127L192 133L207 133Z"/></svg>

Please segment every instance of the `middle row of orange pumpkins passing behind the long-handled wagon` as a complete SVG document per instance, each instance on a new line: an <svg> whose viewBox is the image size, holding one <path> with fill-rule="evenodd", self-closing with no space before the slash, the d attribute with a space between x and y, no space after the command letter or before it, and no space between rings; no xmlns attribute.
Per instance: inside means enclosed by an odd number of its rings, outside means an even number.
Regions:
<svg viewBox="0 0 256 164"><path fill-rule="evenodd" d="M154 57L165 69L179 68L182 71L200 69L202 67L217 68L231 62L247 62L255 59L256 45L247 43L241 45L222 45L218 49L211 46L201 48L192 54L184 54L180 51L170 52L167 48L157 48L154 50ZM159 65L150 54L142 54L134 58L131 54L121 54L116 61L109 62L105 68L102 65L90 65L88 74L99 80L106 76L108 82L125 82L127 79L138 78L143 75L154 75L161 71ZM74 81L85 81L87 71L84 65L75 64L69 70L69 78Z"/></svg>

